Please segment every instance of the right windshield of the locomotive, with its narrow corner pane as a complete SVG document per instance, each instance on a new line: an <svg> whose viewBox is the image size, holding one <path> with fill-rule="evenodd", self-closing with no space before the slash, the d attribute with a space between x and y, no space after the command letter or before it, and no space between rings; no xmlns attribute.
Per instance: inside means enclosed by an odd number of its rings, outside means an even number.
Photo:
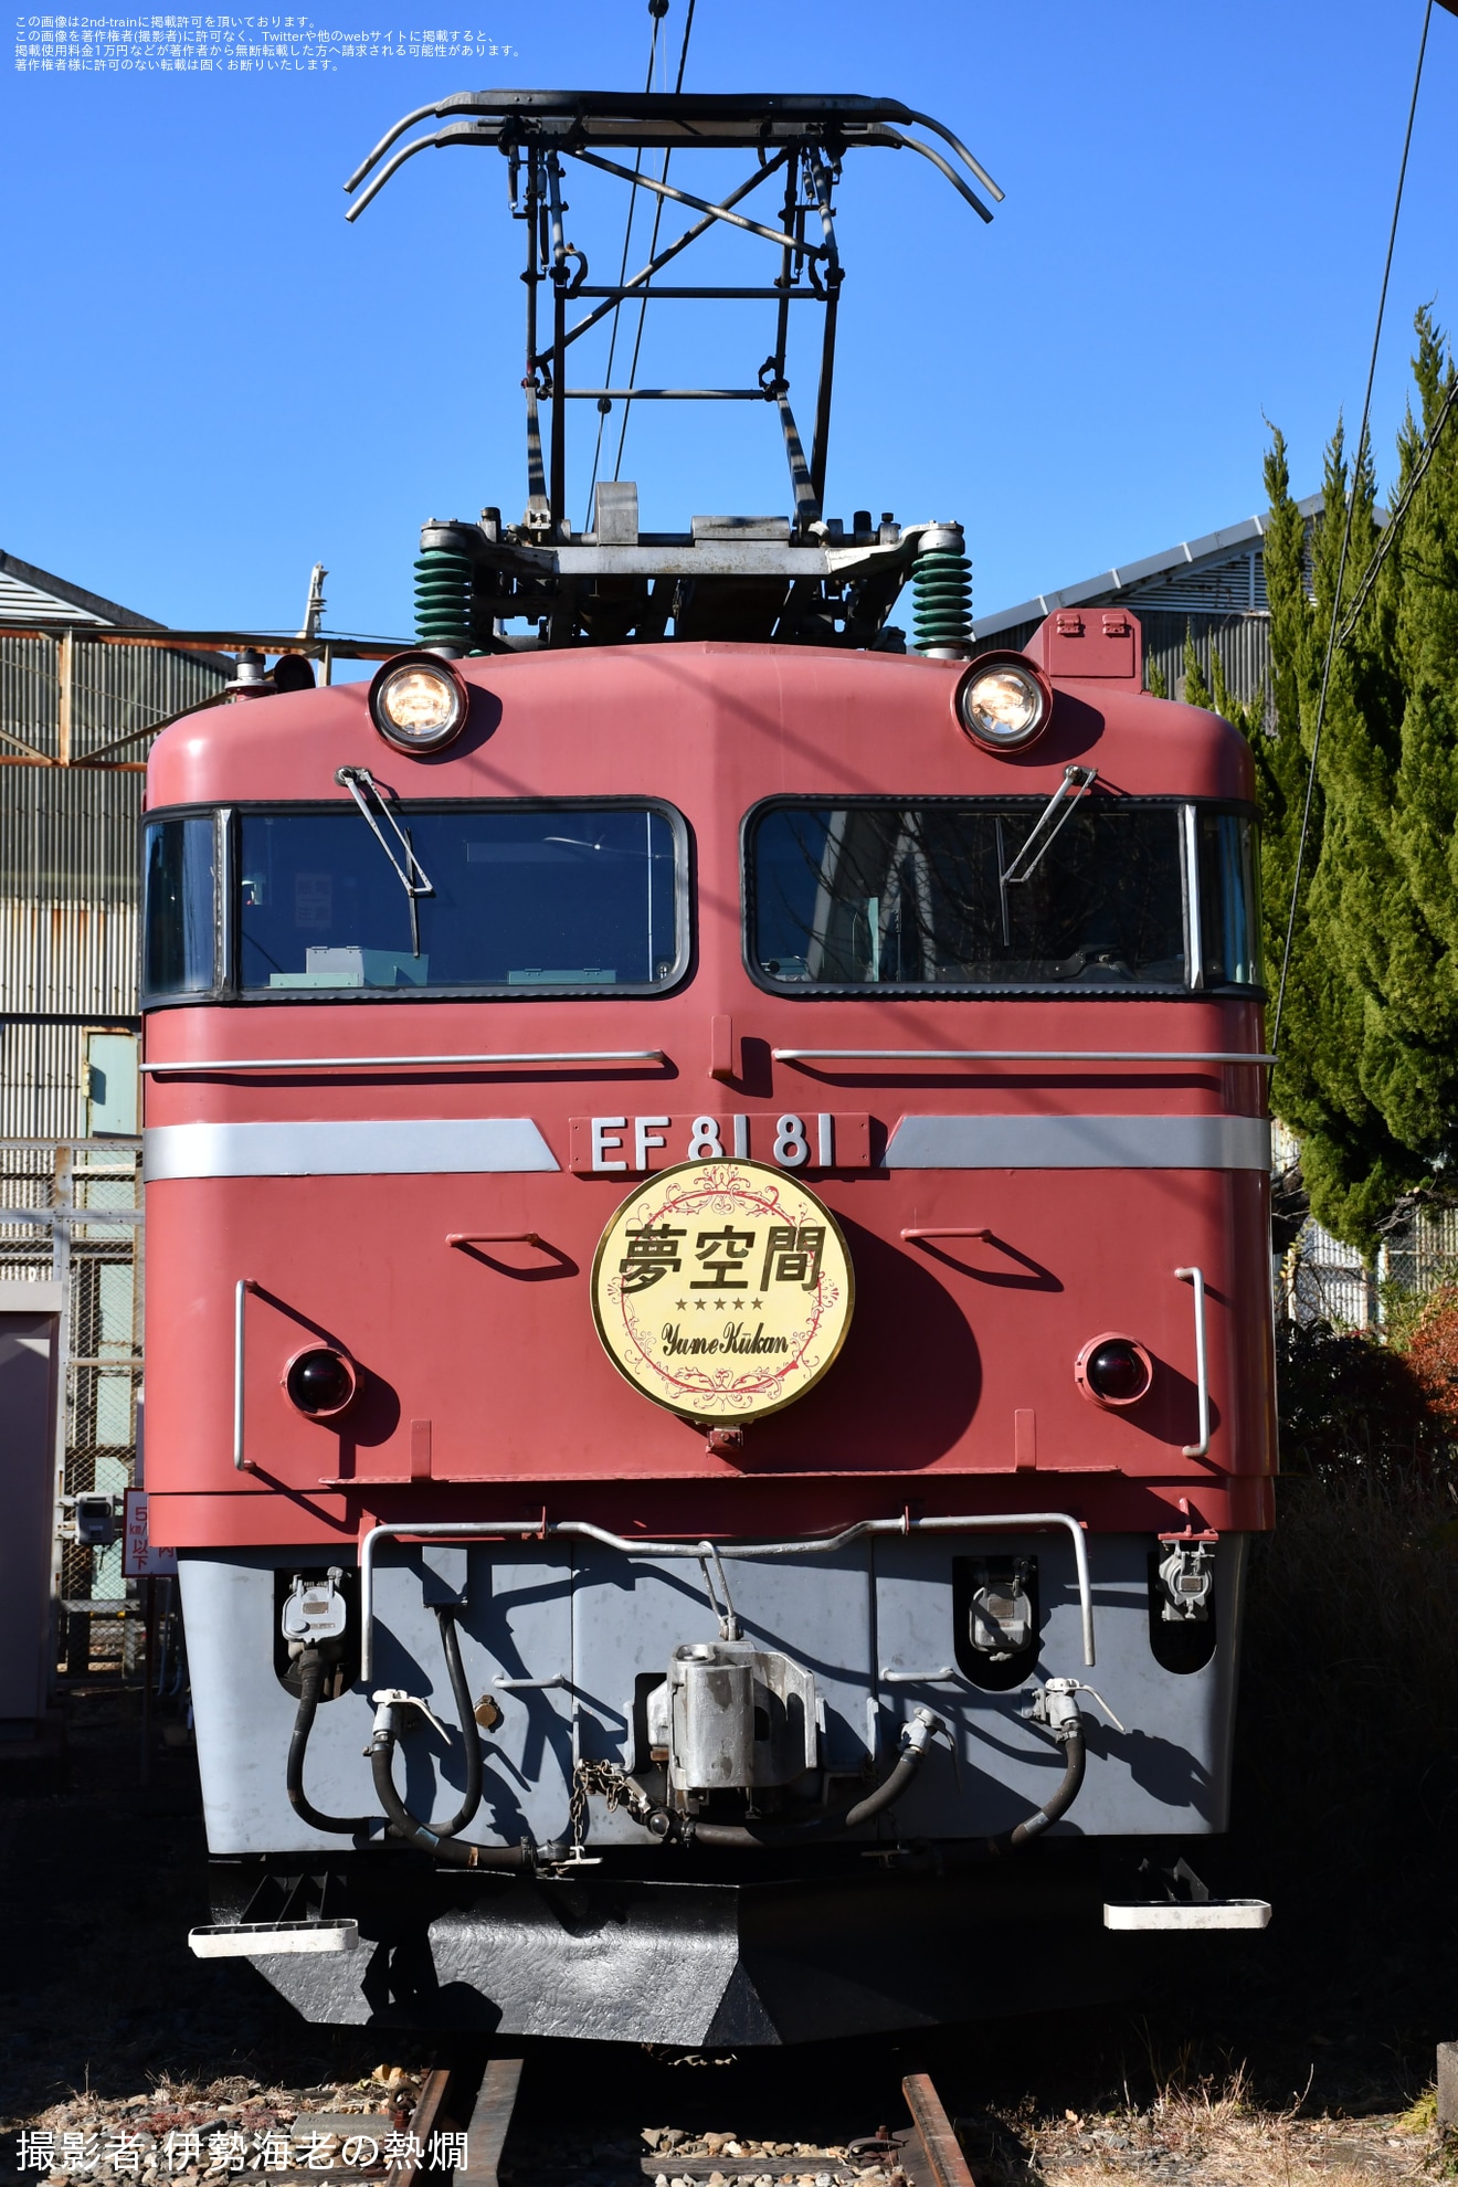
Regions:
<svg viewBox="0 0 1458 2187"><path fill-rule="evenodd" d="M1187 807L1095 792L1034 838L1045 809L1040 798L772 807L748 851L754 969L774 984L861 989L1259 980L1246 818L1209 814L1187 829Z"/></svg>

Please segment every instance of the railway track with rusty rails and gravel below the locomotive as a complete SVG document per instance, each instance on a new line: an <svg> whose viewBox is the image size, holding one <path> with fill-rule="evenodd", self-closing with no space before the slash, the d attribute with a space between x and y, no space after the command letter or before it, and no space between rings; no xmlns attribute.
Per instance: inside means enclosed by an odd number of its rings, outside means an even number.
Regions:
<svg viewBox="0 0 1458 2187"><path fill-rule="evenodd" d="M568 2187L577 2165L533 2154L540 2126L533 2102L522 2097L522 2060L492 2058L479 2067L439 2067L420 2091L411 2132L422 2150L431 2137L463 2135L466 2161L452 2172L424 2163L396 2170L398 2187ZM953 2121L929 2073L901 2082L905 2117L842 2143L789 2139L686 2137L645 2128L636 2174L630 2161L612 2167L623 2183L643 2187L975 2187ZM581 2170L601 2176L584 2159ZM317 2174L315 2174L317 2178Z"/></svg>

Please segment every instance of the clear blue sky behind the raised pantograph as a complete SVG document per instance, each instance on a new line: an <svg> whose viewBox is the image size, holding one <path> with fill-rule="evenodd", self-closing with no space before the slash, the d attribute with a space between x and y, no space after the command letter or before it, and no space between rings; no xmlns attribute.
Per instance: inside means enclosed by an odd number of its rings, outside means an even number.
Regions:
<svg viewBox="0 0 1458 2187"><path fill-rule="evenodd" d="M665 22L673 61L684 9ZM396 17L330 0L313 20ZM354 227L341 182L452 90L640 87L649 15L463 0L431 22L516 52L223 77L31 74L0 52L0 547L190 628L297 625L324 560L330 628L409 634L420 523L520 514L503 162L431 153ZM1309 492L1362 402L1419 28L1421 0L697 0L686 90L892 94L1008 192L984 227L925 162L848 157L831 514L962 518L992 612L1248 516L1263 418ZM1458 20L1436 9L1377 381L1384 475L1412 311L1458 321L1456 90ZM732 179L710 155L682 166ZM573 177L571 206L597 280L625 190ZM769 256L726 238L715 262L754 280ZM752 378L772 306L697 311L649 311L645 385ZM796 400L809 431L809 356ZM789 501L756 405L634 413L623 475L662 529Z"/></svg>

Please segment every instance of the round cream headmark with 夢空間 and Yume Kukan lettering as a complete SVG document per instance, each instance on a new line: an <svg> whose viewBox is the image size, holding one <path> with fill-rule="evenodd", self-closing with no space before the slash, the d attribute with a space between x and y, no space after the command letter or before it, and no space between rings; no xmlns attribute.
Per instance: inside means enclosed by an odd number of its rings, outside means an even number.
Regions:
<svg viewBox="0 0 1458 2187"><path fill-rule="evenodd" d="M855 1301L835 1216L763 1161L684 1161L632 1192L592 1262L592 1319L634 1389L759 1419L835 1360Z"/></svg>

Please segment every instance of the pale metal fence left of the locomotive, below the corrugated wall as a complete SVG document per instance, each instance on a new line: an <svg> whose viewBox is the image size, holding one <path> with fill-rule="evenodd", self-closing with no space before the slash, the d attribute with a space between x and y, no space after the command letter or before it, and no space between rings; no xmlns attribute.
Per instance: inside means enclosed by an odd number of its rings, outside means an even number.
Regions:
<svg viewBox="0 0 1458 2187"><path fill-rule="evenodd" d="M52 1594L72 1673L133 1666L136 1583L120 1540L74 1537L74 1498L136 1476L142 1380L142 1142L0 1139L0 1277L59 1282L63 1406L57 1435Z"/></svg>

